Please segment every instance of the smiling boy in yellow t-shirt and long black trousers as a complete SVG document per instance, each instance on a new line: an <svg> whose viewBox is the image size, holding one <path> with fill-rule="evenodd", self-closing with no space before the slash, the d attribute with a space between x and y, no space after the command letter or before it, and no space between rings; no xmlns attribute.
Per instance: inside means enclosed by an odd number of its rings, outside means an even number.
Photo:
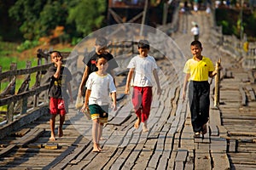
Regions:
<svg viewBox="0 0 256 170"><path fill-rule="evenodd" d="M187 83L189 82L191 122L196 138L200 136L200 133L207 133L210 108L208 77L214 77L217 71L214 71L212 60L201 55L201 42L191 42L190 49L193 58L186 62L183 69L184 73L186 73L183 82L183 100L185 99Z"/></svg>

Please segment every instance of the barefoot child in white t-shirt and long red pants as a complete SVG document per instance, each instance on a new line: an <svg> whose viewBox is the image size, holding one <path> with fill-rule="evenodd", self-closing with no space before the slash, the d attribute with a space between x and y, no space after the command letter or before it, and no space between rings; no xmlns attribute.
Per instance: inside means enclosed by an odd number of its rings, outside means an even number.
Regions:
<svg viewBox="0 0 256 170"><path fill-rule="evenodd" d="M132 104L136 111L137 121L134 127L137 129L143 122L143 132L148 132L147 121L152 102L153 78L157 85L157 94L161 94L157 65L154 57L148 55L149 42L140 40L138 42L139 54L133 57L127 66L130 69L125 86L125 94L130 92L130 83L133 87ZM134 76L133 76L133 73ZM131 78L133 80L131 81Z"/></svg>

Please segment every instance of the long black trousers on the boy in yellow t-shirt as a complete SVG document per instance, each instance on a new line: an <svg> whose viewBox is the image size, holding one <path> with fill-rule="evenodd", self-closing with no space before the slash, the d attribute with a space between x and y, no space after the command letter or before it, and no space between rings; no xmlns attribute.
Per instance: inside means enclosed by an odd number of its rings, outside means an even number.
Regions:
<svg viewBox="0 0 256 170"><path fill-rule="evenodd" d="M189 82L189 106L194 132L200 132L201 127L209 120L209 94L209 82Z"/></svg>

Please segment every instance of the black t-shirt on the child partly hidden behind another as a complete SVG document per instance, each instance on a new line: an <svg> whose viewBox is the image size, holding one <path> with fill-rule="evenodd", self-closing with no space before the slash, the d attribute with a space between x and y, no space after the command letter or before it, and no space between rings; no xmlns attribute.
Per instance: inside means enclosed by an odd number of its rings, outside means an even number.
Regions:
<svg viewBox="0 0 256 170"><path fill-rule="evenodd" d="M105 59L108 59L108 69L107 72L110 74L113 69L117 68L119 65L117 64L116 60L113 59L112 54L96 54L95 51L90 52L88 56L85 56L83 59L83 62L85 65L89 67L89 74L98 71L98 68L96 67L96 58L98 56L103 56Z"/></svg>

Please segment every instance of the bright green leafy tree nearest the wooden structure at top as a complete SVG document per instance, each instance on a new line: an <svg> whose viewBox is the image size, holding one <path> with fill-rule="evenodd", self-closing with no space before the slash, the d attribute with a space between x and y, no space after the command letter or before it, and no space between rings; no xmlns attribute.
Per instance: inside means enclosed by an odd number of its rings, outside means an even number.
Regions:
<svg viewBox="0 0 256 170"><path fill-rule="evenodd" d="M83 36L102 26L107 9L106 0L81 0L72 5L73 8L68 11L67 23L74 23Z"/></svg>

